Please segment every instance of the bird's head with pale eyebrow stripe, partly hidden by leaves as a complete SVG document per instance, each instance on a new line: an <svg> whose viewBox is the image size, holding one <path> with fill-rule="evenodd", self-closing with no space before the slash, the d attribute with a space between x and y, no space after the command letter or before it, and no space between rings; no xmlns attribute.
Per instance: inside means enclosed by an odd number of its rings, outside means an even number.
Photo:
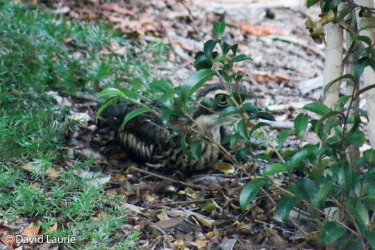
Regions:
<svg viewBox="0 0 375 250"><path fill-rule="evenodd" d="M219 128L233 122L231 117L220 117L220 112L228 106L249 101L249 92L242 85L230 85L227 90L222 83L207 85L197 94L197 110L193 119L204 128Z"/></svg>

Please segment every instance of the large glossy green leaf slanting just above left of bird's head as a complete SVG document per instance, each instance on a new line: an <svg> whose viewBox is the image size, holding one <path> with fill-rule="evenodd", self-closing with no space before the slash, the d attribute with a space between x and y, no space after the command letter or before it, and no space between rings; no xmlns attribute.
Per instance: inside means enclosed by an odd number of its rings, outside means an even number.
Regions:
<svg viewBox="0 0 375 250"><path fill-rule="evenodd" d="M210 80L215 72L211 69L201 69L188 77L179 90L180 97L186 101L193 92L201 88L206 81Z"/></svg>

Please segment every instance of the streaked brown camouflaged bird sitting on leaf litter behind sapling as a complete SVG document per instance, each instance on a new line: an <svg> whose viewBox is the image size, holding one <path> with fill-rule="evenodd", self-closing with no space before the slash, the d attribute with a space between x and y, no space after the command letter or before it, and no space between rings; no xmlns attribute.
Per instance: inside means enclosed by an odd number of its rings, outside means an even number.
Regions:
<svg viewBox="0 0 375 250"><path fill-rule="evenodd" d="M234 93L232 97L238 101L243 102L248 97L243 87L233 85L231 88L231 92ZM228 117L219 118L219 112L228 107L229 98L229 93L222 84L207 85L203 88L196 96L199 105L193 113L195 125L191 121L180 120L172 126L167 126L155 113L143 113L128 121L125 126L121 126L128 113L140 108L133 103L110 105L101 113L101 119L117 127L117 139L135 160L175 169L203 169L217 162L222 128L233 121ZM152 105L160 108L162 103ZM181 136L171 136L174 132L184 130L178 124L185 128L198 125L201 133L213 139L214 142L202 140L199 160L185 155L181 147ZM199 138L199 135L190 133L191 138Z"/></svg>

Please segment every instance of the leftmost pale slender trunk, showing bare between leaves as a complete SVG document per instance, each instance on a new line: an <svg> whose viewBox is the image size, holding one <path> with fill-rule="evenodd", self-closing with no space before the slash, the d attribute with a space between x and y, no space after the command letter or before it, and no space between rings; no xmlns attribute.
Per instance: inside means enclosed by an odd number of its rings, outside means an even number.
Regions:
<svg viewBox="0 0 375 250"><path fill-rule="evenodd" d="M342 76L342 28L338 24L329 23L324 26L326 33L326 58L324 60L324 86ZM340 82L335 83L326 92L324 104L333 106L339 99Z"/></svg>

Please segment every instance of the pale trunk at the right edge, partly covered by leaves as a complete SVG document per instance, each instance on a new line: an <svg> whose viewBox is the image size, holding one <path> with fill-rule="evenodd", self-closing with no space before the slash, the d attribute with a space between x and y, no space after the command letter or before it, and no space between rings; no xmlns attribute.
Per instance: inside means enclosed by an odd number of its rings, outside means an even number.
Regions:
<svg viewBox="0 0 375 250"><path fill-rule="evenodd" d="M374 8L374 0L357 0L354 1L360 6L366 6L369 8ZM375 17L358 17L357 22L359 28L374 26ZM368 28L360 31L360 35L366 35L372 39L372 43L375 42L375 28ZM367 45L365 45L367 47ZM375 84L375 72L371 67L366 67L363 72L363 81L365 87ZM369 130L369 140L373 149L375 149L375 89L365 92L366 106L367 106L367 116L369 117L368 130Z"/></svg>

